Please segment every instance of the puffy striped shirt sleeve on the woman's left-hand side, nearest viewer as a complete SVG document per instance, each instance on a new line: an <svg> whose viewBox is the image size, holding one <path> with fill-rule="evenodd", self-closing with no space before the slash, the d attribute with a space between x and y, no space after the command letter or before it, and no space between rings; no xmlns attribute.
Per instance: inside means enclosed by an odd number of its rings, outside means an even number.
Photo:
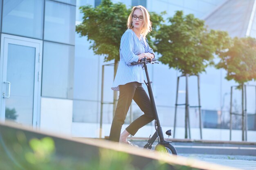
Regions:
<svg viewBox="0 0 256 170"><path fill-rule="evenodd" d="M134 48L134 40L131 33L125 32L121 38L120 56L123 57L124 62L130 65L132 62L137 62L139 56L135 55L132 50Z"/></svg>

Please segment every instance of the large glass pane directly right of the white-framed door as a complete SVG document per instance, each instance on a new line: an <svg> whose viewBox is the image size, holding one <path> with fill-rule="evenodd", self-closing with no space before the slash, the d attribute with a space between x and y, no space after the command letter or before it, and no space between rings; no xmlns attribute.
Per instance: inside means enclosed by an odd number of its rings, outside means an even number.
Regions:
<svg viewBox="0 0 256 170"><path fill-rule="evenodd" d="M44 42L42 96L73 98L74 46Z"/></svg>

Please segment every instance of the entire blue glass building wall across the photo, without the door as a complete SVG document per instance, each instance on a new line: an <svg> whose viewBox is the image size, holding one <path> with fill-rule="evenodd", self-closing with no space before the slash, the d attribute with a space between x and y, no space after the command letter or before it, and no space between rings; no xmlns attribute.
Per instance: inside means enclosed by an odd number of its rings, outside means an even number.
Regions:
<svg viewBox="0 0 256 170"><path fill-rule="evenodd" d="M145 4L149 11L157 13L166 11L164 18L173 16L177 10L183 10L184 14L193 13L195 17L201 19L226 1L113 0L113 2L122 2L127 7L141 3ZM94 6L99 0L2 0L0 2L2 2L0 9L3 9L0 13L1 33L34 38L43 42L40 128L76 137L97 137L101 107L101 68L103 64L111 64L112 61L104 62L104 56L94 55L89 49L90 43L87 38L79 37L75 33L75 24L82 21L79 7L87 4ZM161 123L166 129L173 128L177 76L181 73L163 64L149 66L149 72ZM110 89L114 79L113 74L113 66L105 66L104 102L113 101L113 91ZM191 106L198 105L196 82L195 77L189 78ZM185 101L184 84L184 79L181 79L178 103ZM223 119L227 124L230 86L234 84L235 82L225 80L225 71L212 67L207 68L207 72L200 75L201 105L205 119L208 118L207 114L217 114L218 117L213 116L214 121ZM248 113L254 113L255 89L248 89L247 94L251 99L248 101ZM239 112L240 92L236 91L234 97L236 100L234 109ZM112 110L112 104L104 104L103 135L109 134ZM132 103L125 126L141 114L138 106ZM190 118L191 128L198 130L198 109L190 109ZM234 128L240 128L239 121L240 118L237 118L237 126ZM177 109L177 129L181 129L178 134L183 134L183 127L184 108L180 107ZM153 132L153 123L142 128L137 137L147 134L148 129ZM180 137L182 138L183 135ZM195 135L194 138L198 136ZM203 138L208 139L207 135ZM221 135L218 139L226 140Z"/></svg>

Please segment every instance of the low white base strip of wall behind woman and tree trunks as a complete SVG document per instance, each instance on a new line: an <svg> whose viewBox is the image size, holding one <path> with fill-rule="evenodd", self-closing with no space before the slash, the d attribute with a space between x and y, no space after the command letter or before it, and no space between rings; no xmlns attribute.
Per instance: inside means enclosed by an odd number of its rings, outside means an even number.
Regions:
<svg viewBox="0 0 256 170"><path fill-rule="evenodd" d="M124 124L122 130L124 130L128 124ZM103 124L102 137L109 136L111 124ZM80 130L78 130L80 129ZM172 126L163 126L164 138L167 139L168 136L165 135L166 130L173 129ZM73 122L72 124L72 136L73 137L94 137L99 138L99 124L96 123L81 123ZM144 137L148 138L150 135L155 133L154 126L144 126L136 133L135 137ZM215 140L215 141L229 141L230 131L228 129L215 129L215 128L203 128L202 137L203 140ZM173 138L172 136L169 138ZM184 139L185 138L185 129L184 127L177 127L175 129L175 138ZM191 139L200 139L200 129L191 128ZM242 132L241 130L232 130L232 141L242 141ZM247 131L247 141L256 141L256 132L252 130Z"/></svg>

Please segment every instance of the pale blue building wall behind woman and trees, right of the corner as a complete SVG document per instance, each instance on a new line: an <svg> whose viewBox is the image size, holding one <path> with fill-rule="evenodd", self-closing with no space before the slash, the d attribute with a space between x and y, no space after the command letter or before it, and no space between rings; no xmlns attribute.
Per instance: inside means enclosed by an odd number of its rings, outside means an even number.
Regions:
<svg viewBox="0 0 256 170"><path fill-rule="evenodd" d="M77 0L76 2L76 9L78 9L79 5L95 5L93 1ZM113 2L122 2L126 4L127 7L131 7L132 4L137 5L135 0L113 0ZM139 2L139 0L137 2ZM157 13L166 11L167 15L165 15L164 18L173 16L177 10L182 10L185 15L193 13L195 17L204 19L226 2L227 0L142 0L140 3L146 4L148 11L155 11ZM78 14L78 12L76 13L76 24L79 24L82 21L82 15ZM113 62L103 62L104 56L94 55L93 51L89 50L89 47L90 44L85 37L81 38L79 35L76 35L72 135L98 137L99 134L97 134L97 132L99 132L101 107L101 68L103 64L111 64ZM160 57L160 55L158 54L156 57ZM168 66L164 64L149 66L149 73L153 82L153 91L161 123L166 128L173 128L177 76L181 73L172 68L169 69ZM114 79L113 74L113 66L105 66L103 101L108 103L113 101L113 91L110 89ZM215 121L216 124L214 126L217 126L220 120L223 120L223 122L218 126L222 128L227 128L229 124L230 86L236 83L234 81L225 80L225 74L225 71L216 70L216 68L213 67L207 68L206 73L200 74L201 106L202 114L204 115L203 118L206 119L205 126L208 125L207 122L209 121ZM163 77L162 75L165 76ZM144 86L144 88L146 88L146 86ZM250 110L248 113L254 113L255 106L252 104L252 101L255 99L254 93L254 89L248 91L248 97L252 99L250 103L248 103L248 110ZM240 92L235 91L233 97L235 98L236 112L240 112ZM185 81L181 79L178 103L181 104L184 102ZM191 106L198 105L196 77L189 78L189 104ZM103 136L109 135L113 114L112 107L112 104L103 105ZM141 110L133 102L131 109L128 111L126 125L130 123L130 120L135 119L141 114ZM210 118L207 114L212 115L211 117L214 117L214 120L209 120ZM240 118L238 117L237 124L239 124L239 121ZM190 109L190 122L192 128L199 128L198 109ZM126 125L124 125L124 127ZM94 127L93 129L95 130L88 132L89 127ZM153 123L146 127L154 129ZM184 127L183 107L177 109L177 127L180 129ZM239 129L240 127L235 126L234 128ZM141 132L136 134L137 137L142 137L144 136L143 134L147 134L145 128L141 128L141 130ZM228 140L226 136L223 137L221 135L222 131L217 131L216 133L220 135L218 135L216 140ZM182 131L180 134L182 134ZM183 135L180 137L183 138ZM194 137L197 139L198 135ZM204 138L209 139L210 137L207 133L204 133L203 139ZM238 140L240 140L239 137Z"/></svg>

